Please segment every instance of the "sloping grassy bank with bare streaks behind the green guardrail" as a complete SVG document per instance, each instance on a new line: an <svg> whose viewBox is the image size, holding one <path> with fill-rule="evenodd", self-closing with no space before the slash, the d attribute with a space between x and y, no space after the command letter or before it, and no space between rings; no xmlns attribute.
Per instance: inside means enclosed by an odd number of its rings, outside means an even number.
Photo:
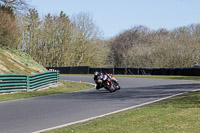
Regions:
<svg viewBox="0 0 200 133"><path fill-rule="evenodd" d="M36 74L47 70L33 58L15 49L0 46L0 74Z"/></svg>

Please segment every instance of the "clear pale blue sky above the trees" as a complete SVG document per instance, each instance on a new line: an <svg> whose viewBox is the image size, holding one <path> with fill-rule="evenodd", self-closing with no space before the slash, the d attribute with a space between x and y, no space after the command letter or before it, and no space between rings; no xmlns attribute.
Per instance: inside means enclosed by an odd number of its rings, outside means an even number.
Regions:
<svg viewBox="0 0 200 133"><path fill-rule="evenodd" d="M69 17L89 13L104 38L138 25L173 30L200 23L200 0L29 0L29 4L41 17L61 11Z"/></svg>

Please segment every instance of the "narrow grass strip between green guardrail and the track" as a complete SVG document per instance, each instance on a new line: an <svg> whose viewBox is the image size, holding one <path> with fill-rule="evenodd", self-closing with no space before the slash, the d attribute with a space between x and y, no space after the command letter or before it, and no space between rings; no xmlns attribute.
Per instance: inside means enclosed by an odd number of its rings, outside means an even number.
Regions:
<svg viewBox="0 0 200 133"><path fill-rule="evenodd" d="M15 99L22 99L22 98L31 98L31 97L38 97L38 96L53 95L53 94L69 93L69 92L85 90L85 89L89 89L93 87L94 87L93 85L86 84L86 83L61 81L59 86L50 87L49 89L32 91L32 92L17 92L17 93L1 94L0 102L15 100Z"/></svg>

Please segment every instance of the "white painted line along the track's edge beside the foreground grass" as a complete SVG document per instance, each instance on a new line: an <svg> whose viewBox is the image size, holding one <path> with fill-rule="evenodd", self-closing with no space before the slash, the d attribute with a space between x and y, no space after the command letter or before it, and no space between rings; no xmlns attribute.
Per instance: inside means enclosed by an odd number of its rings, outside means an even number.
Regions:
<svg viewBox="0 0 200 133"><path fill-rule="evenodd" d="M190 92L199 91L199 90L200 89L196 89L196 90L192 90ZM137 107L141 107L141 106L148 105L148 104L152 104L152 103L155 103L155 102L159 102L159 101L162 101L162 100L165 100L165 99L168 99L168 98L171 98L171 97L175 97L175 96L178 96L178 95L186 94L186 93L189 93L189 92L175 94L175 95L164 97L164 98L161 98L161 99L158 99L158 100L154 100L154 101L151 101L151 102L146 102L146 103L143 103L143 104L131 106L131 107L128 107L128 108L124 108L124 109L113 111L113 112L106 113L106 114L103 114L103 115L98 115L98 116L95 116L95 117L90 117L90 118L87 118L87 119L83 119L83 120L71 122L71 123L68 123L68 124L63 124L63 125L60 125L60 126L55 126L55 127L52 127L52 128L47 128L47 129L39 130L39 131L36 131L36 132L33 132L33 133L40 133L40 132L44 132L44 131L53 130L53 129L56 129L56 128L62 128L62 127L66 127L66 126L69 126L69 125L86 122L86 121L89 121L89 120L92 120L92 119L104 117L104 116L111 115L111 114L116 114L116 113L119 113L119 112L122 112L122 111L126 111L126 110L137 108Z"/></svg>

